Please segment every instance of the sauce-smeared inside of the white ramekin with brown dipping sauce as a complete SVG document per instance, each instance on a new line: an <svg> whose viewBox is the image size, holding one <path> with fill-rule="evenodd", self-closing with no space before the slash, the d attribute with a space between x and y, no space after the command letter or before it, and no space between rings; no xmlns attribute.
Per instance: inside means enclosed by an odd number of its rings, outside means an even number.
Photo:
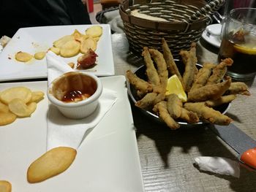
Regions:
<svg viewBox="0 0 256 192"><path fill-rule="evenodd" d="M88 99L97 90L97 82L79 72L64 74L53 84L53 96L64 102L78 102Z"/></svg>

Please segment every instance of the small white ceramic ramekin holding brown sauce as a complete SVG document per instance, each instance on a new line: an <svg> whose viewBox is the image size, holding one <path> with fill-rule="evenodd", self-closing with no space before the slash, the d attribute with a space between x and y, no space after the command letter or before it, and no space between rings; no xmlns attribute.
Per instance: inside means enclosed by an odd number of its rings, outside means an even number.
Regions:
<svg viewBox="0 0 256 192"><path fill-rule="evenodd" d="M75 75L81 75L80 77L85 77L85 79L88 79L90 81L90 78L94 80L97 84L96 91L89 96L87 99L83 99L82 101L61 101L57 99L56 97L56 87L57 85L60 85L62 89L65 87L68 87L69 85L65 85L70 83L67 78L72 78ZM79 77L79 78L80 78ZM66 79L65 79L66 78ZM78 78L78 79L79 79ZM67 83L68 82L68 83ZM85 86L88 85L88 81L80 81L80 83L85 84ZM102 82L99 80L99 77L95 76L94 74L89 74L86 72L68 72L60 77L57 77L56 80L53 80L53 82L50 83L48 86L48 99L50 102L55 105L59 111L67 118L72 119L80 119L80 118L86 118L87 116L91 115L94 110L96 110L97 105L99 104L99 96L102 94Z"/></svg>

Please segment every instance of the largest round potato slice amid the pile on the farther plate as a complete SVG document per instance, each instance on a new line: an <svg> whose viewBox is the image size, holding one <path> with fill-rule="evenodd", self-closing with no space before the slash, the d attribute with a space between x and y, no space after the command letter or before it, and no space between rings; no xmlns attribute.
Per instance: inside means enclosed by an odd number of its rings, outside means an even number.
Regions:
<svg viewBox="0 0 256 192"><path fill-rule="evenodd" d="M79 52L80 52L80 42L76 40L71 40L61 46L60 55L64 58L70 58L72 56L78 55Z"/></svg>

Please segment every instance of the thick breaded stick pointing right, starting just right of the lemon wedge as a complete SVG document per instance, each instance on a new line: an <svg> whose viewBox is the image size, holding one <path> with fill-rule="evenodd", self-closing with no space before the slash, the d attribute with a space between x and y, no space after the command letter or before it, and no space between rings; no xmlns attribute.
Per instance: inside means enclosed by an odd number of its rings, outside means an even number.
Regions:
<svg viewBox="0 0 256 192"><path fill-rule="evenodd" d="M209 99L217 100L230 87L231 78L229 77L224 82L219 82L214 85L205 85L201 88L193 89L188 93L188 101L206 101Z"/></svg>

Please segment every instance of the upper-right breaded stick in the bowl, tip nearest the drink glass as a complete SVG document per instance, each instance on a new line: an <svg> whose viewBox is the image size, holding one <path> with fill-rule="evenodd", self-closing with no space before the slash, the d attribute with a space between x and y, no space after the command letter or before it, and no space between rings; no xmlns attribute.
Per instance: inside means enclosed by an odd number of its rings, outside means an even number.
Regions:
<svg viewBox="0 0 256 192"><path fill-rule="evenodd" d="M221 82L223 77L225 76L227 72L227 66L231 66L233 64L232 58L225 58L218 64L214 69L209 77L206 85L216 84L218 82Z"/></svg>

